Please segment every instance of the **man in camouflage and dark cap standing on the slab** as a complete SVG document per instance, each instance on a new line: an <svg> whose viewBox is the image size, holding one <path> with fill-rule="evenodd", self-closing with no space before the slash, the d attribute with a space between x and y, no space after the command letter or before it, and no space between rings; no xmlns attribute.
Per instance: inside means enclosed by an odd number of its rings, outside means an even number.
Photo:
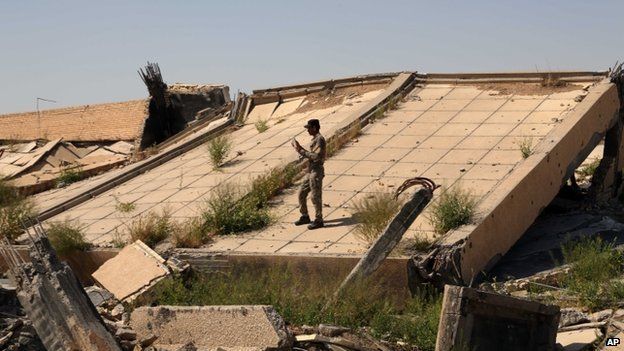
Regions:
<svg viewBox="0 0 624 351"><path fill-rule="evenodd" d="M308 214L308 193L312 192L312 204L316 211L314 222L308 225L308 229L316 229L323 227L323 177L325 169L323 163L326 156L325 138L320 133L321 124L318 119L311 119L304 126L308 133L312 136L312 144L310 151L307 151L296 139L293 139L293 147L301 157L308 160L308 169L305 179L299 188L299 212L301 218L295 222L295 225L303 225L310 223L310 215Z"/></svg>

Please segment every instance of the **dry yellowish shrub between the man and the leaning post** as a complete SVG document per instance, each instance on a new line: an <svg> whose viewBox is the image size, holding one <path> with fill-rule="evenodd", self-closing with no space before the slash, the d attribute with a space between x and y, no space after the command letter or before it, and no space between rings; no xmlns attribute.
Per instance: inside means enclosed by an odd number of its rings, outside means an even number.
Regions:
<svg viewBox="0 0 624 351"><path fill-rule="evenodd" d="M353 217L358 222L355 227L356 235L369 244L377 239L401 209L401 202L395 199L393 193L386 191L354 200L352 205Z"/></svg>

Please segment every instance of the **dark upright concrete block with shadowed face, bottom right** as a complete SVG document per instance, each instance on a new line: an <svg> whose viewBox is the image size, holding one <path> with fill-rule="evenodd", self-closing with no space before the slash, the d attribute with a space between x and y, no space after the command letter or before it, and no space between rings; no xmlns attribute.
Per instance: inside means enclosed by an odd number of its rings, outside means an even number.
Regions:
<svg viewBox="0 0 624 351"><path fill-rule="evenodd" d="M555 350L559 307L444 287L436 350Z"/></svg>

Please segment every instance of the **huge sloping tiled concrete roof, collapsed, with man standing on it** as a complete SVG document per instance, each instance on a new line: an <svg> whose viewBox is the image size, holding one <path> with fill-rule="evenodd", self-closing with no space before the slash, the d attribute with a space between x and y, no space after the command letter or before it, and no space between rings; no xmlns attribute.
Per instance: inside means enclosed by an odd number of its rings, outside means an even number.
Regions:
<svg viewBox="0 0 624 351"><path fill-rule="evenodd" d="M617 89L604 72L408 73L358 79L255 91L244 109L246 122L230 131L236 162L223 172L213 171L203 148L178 150L92 199L80 195L79 201L42 208L44 219L79 220L90 241L106 245L116 228L147 211L168 208L174 218L194 217L216 186L245 181L296 159L288 142L293 136L305 138L301 122L313 116L321 120L326 138L364 126L360 136L327 160L323 197L328 225L314 232L292 226L299 216L293 189L274 206L276 223L217 238L203 250L358 256L367 244L355 235L352 201L425 176L447 188L471 191L478 216L470 225L438 235L425 213L405 239L435 239L423 264L465 283L504 254L552 201L616 124L619 108ZM372 112L397 94L404 97L397 108L371 123ZM267 121L269 130L255 130L258 120ZM532 143L528 158L520 151L523 140ZM135 203L137 212L117 213L119 201Z"/></svg>

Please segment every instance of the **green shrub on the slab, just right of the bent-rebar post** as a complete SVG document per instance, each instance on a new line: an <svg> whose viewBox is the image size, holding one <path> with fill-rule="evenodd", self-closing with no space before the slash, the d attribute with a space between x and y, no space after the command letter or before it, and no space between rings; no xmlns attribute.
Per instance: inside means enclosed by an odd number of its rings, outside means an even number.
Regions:
<svg viewBox="0 0 624 351"><path fill-rule="evenodd" d="M429 221L438 234L470 223L474 216L476 200L467 191L454 187L447 189L431 205Z"/></svg>

